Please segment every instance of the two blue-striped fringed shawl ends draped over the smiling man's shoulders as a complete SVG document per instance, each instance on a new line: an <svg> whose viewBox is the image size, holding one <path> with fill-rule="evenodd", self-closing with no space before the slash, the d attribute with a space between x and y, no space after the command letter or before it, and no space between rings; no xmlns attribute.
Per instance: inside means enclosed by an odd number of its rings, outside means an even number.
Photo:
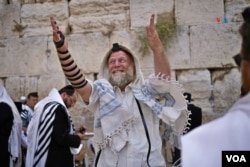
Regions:
<svg viewBox="0 0 250 167"><path fill-rule="evenodd" d="M110 146L112 151L119 152L128 141L127 131L134 124L135 118L117 100L107 80L97 80L94 87L98 90L100 101L100 117L95 123L95 143L98 149ZM190 112L187 111L186 100L177 82L152 75L142 87L133 87L133 94L169 124L175 135L181 135L187 130ZM159 100L164 100L164 103Z"/></svg>

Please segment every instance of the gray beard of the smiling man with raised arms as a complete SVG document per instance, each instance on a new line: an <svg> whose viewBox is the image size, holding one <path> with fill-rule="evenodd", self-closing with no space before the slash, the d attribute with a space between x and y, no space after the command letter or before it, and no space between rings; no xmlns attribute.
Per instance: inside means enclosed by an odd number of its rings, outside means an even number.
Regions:
<svg viewBox="0 0 250 167"><path fill-rule="evenodd" d="M112 86L117 86L120 89L124 88L130 82L134 80L133 67L130 66L127 72L116 72L116 74L110 74L109 82Z"/></svg>

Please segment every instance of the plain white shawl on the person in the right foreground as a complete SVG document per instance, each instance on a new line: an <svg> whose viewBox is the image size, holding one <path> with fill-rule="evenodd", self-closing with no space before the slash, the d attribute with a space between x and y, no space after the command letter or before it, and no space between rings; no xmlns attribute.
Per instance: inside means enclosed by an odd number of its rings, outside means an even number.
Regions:
<svg viewBox="0 0 250 167"><path fill-rule="evenodd" d="M239 99L223 117L184 135L181 142L182 167L221 167L222 151L249 151L250 93Z"/></svg>

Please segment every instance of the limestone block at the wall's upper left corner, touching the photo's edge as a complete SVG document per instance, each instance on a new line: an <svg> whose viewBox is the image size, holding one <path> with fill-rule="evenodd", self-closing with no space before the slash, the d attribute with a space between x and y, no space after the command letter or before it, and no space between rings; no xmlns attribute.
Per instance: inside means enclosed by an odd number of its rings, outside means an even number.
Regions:
<svg viewBox="0 0 250 167"><path fill-rule="evenodd" d="M1 5L1 3L0 3ZM4 4L0 7L0 39L18 38L22 26L20 26L20 4Z"/></svg>

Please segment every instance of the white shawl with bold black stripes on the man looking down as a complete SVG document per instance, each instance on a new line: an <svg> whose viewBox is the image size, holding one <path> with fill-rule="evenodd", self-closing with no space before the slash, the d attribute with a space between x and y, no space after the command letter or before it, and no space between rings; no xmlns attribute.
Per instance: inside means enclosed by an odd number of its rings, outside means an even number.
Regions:
<svg viewBox="0 0 250 167"><path fill-rule="evenodd" d="M46 98L38 102L35 106L34 115L27 130L27 166L45 166L53 131L53 122L55 120L55 109L58 105L64 106L65 112L69 116L67 107L65 106L58 90L54 88ZM74 128L70 121L70 116L69 124L71 127L70 134L74 134Z"/></svg>

